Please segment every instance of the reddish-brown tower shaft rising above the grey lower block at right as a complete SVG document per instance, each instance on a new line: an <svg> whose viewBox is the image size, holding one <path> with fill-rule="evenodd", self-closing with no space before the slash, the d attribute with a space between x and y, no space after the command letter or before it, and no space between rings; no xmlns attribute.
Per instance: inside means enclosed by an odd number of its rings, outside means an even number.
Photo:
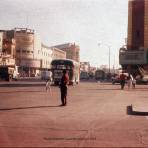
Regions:
<svg viewBox="0 0 148 148"><path fill-rule="evenodd" d="M128 8L128 40L127 46L131 50L146 48L147 45L147 0L130 0ZM146 11L147 10L147 11Z"/></svg>

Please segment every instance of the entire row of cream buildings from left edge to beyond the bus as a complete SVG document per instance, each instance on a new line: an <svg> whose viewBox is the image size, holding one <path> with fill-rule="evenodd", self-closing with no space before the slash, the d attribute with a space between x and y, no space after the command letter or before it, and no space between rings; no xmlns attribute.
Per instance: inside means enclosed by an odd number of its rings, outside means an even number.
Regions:
<svg viewBox="0 0 148 148"><path fill-rule="evenodd" d="M49 70L52 59L66 59L67 53L68 58L79 60L79 48L75 44L59 47L44 45L33 29L0 30L0 65L17 65L20 76L30 77Z"/></svg>

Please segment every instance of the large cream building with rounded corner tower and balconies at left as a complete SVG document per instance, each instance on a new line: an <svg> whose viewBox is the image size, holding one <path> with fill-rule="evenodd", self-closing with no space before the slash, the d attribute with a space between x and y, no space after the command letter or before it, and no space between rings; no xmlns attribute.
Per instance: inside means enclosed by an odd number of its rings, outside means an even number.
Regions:
<svg viewBox="0 0 148 148"><path fill-rule="evenodd" d="M3 54L15 59L20 75L35 76L39 71L50 68L52 50L41 43L34 30L14 28L0 30L0 33L3 34Z"/></svg>

